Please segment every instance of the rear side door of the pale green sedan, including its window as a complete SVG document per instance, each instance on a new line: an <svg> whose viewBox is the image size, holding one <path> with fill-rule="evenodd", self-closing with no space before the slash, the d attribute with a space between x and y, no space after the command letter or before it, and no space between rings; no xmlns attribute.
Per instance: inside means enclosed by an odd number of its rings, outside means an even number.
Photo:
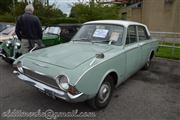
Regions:
<svg viewBox="0 0 180 120"><path fill-rule="evenodd" d="M139 40L139 46L141 48L141 66L143 66L147 59L149 58L150 52L151 52L151 46L150 46L150 36L147 33L147 30L144 26L137 26L137 33L138 33L138 40Z"/></svg>

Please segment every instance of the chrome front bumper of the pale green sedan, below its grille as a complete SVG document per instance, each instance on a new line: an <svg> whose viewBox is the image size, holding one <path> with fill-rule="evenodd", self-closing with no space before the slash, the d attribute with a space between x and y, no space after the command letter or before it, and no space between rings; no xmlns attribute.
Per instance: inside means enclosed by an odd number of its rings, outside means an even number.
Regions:
<svg viewBox="0 0 180 120"><path fill-rule="evenodd" d="M45 85L43 83L40 83L36 80L31 79L30 77L27 77L26 75L23 75L22 73L18 71L13 71L14 74L17 74L18 78L22 81L26 82L27 84L37 88L41 92L45 93L46 95L52 97L52 98L60 98L68 102L83 102L87 100L88 96L80 93L78 95L71 95L69 93L66 93L64 91L55 89L53 87L50 87L48 85Z"/></svg>

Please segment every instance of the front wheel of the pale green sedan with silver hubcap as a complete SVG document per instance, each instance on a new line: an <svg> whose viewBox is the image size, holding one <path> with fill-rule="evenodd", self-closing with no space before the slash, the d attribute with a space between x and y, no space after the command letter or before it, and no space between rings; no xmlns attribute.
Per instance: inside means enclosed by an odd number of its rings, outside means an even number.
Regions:
<svg viewBox="0 0 180 120"><path fill-rule="evenodd" d="M107 76L101 84L97 95L88 101L88 104L95 110L103 109L109 104L114 89L114 81L111 76ZM106 90L106 91L105 91ZM106 92L106 93L103 93Z"/></svg>

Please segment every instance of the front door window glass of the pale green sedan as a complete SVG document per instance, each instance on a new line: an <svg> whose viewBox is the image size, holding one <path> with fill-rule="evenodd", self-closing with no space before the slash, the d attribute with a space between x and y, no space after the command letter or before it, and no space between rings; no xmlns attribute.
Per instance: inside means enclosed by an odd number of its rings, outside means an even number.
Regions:
<svg viewBox="0 0 180 120"><path fill-rule="evenodd" d="M137 42L136 26L129 26L127 30L126 44Z"/></svg>

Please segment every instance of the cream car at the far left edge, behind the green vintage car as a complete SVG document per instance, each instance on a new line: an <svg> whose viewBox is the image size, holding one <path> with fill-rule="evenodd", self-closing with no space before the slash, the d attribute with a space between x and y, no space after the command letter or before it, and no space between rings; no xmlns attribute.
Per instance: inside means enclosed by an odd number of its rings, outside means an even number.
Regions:
<svg viewBox="0 0 180 120"><path fill-rule="evenodd" d="M9 40L17 38L15 34L15 26L9 26L0 33L0 44Z"/></svg>

